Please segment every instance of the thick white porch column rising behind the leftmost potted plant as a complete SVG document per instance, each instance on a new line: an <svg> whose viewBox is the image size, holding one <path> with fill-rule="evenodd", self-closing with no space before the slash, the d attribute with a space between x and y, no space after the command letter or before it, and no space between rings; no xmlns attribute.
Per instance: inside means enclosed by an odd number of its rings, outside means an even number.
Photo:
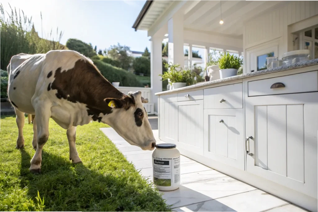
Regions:
<svg viewBox="0 0 318 212"><path fill-rule="evenodd" d="M183 13L177 12L168 21L168 62L184 68Z"/></svg>

